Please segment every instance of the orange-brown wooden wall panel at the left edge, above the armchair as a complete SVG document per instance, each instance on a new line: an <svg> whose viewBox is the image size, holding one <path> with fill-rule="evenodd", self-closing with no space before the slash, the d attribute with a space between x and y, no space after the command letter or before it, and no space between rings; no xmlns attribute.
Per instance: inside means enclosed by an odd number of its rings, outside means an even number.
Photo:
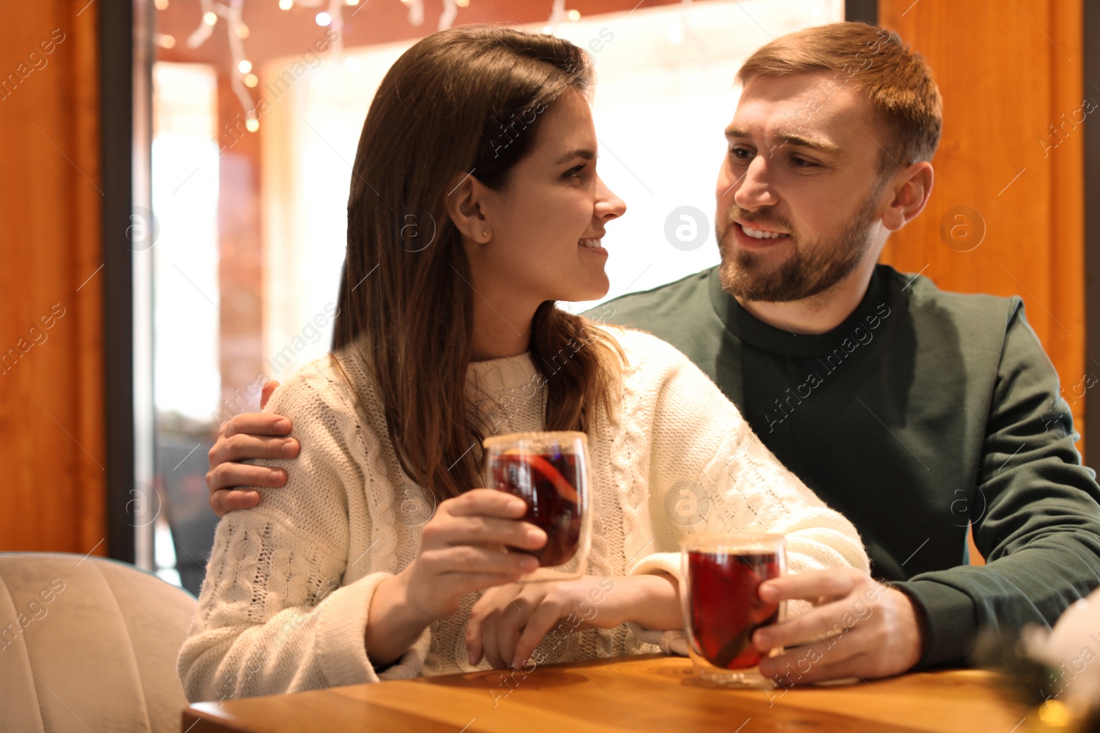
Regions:
<svg viewBox="0 0 1100 733"><path fill-rule="evenodd" d="M97 7L0 23L0 551L105 553Z"/></svg>

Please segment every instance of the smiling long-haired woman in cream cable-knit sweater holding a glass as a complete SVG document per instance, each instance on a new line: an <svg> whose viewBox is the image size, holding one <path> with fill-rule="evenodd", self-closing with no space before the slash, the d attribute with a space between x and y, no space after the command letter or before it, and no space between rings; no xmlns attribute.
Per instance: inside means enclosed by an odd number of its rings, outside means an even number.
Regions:
<svg viewBox="0 0 1100 733"><path fill-rule="evenodd" d="M352 174L334 351L267 406L301 455L218 527L179 657L191 700L682 648L686 529L664 507L684 487L711 501L692 531L785 534L794 573L866 569L853 525L686 357L556 308L606 295L600 240L625 211L596 175L591 82L576 46L479 26L386 75ZM534 559L504 548L547 537L480 488L481 442L537 430L588 434L590 575L512 586ZM426 523L402 513L409 496L435 507ZM569 633L543 638L561 619Z"/></svg>

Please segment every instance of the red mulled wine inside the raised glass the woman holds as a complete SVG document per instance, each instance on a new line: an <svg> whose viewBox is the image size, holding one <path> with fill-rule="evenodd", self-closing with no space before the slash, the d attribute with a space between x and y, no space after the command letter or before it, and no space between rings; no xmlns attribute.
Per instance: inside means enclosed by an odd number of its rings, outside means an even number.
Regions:
<svg viewBox="0 0 1100 733"><path fill-rule="evenodd" d="M576 487L584 480L583 459L563 453L507 452L493 457L493 487L527 502L524 521L547 533L539 549L518 549L539 558L542 567L564 565L581 538Z"/></svg>

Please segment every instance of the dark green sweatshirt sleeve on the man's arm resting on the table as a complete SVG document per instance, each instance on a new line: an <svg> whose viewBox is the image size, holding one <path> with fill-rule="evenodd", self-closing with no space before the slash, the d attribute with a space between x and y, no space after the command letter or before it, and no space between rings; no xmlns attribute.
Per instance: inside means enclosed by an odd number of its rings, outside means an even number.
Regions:
<svg viewBox="0 0 1100 733"><path fill-rule="evenodd" d="M1091 384L1087 379L1091 378ZM1096 384L1086 375L1085 388ZM919 667L959 663L979 630L1011 637L1053 624L1100 585L1100 487L1081 465L1058 374L1013 299L970 502L985 566L923 573L894 584L922 607L927 638Z"/></svg>

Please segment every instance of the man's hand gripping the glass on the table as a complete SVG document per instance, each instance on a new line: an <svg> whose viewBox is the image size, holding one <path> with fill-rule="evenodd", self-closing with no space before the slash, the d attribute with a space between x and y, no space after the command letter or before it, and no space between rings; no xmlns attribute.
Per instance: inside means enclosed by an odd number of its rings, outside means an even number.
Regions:
<svg viewBox="0 0 1100 733"><path fill-rule="evenodd" d="M807 600L815 608L759 629L752 641L767 652L760 674L787 688L846 677L889 677L910 670L924 652L924 619L909 596L855 568L790 575L760 585L765 601ZM822 638L828 635L828 638Z"/></svg>

